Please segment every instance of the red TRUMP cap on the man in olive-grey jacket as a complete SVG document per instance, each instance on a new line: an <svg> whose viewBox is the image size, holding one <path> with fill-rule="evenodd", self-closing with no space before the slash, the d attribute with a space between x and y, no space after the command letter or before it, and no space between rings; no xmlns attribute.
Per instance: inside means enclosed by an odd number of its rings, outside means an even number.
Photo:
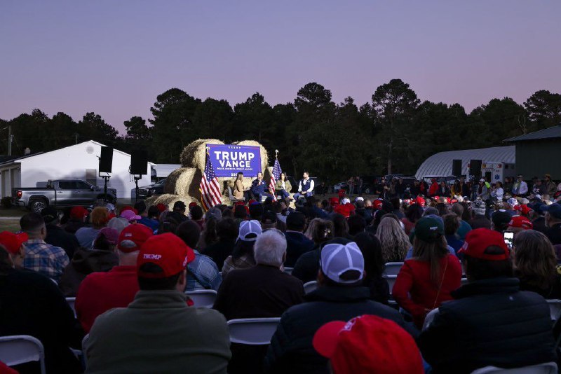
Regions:
<svg viewBox="0 0 561 374"><path fill-rule="evenodd" d="M137 274L146 278L168 278L185 270L187 264L195 259L195 252L183 240L172 233L149 237L142 247L136 261ZM154 263L163 272L142 272L145 263Z"/></svg>

